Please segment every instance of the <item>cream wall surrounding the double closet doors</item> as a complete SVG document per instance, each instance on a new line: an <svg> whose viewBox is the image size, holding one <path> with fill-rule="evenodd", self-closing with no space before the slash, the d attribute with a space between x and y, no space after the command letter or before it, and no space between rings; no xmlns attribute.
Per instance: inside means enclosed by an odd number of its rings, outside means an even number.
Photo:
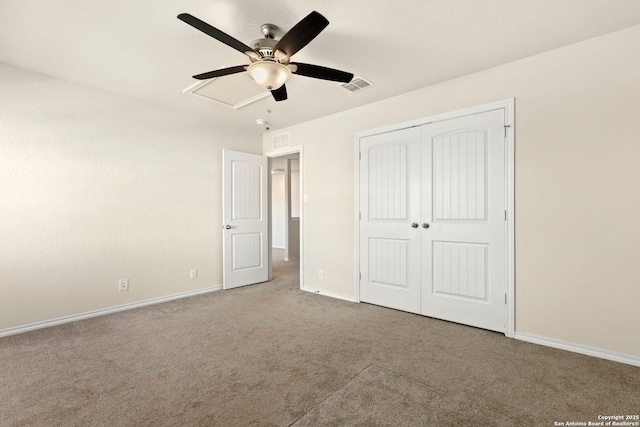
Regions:
<svg viewBox="0 0 640 427"><path fill-rule="evenodd" d="M516 330L640 355L638 46L640 26L274 131L305 147L305 286L356 295L356 132L515 97Z"/></svg>

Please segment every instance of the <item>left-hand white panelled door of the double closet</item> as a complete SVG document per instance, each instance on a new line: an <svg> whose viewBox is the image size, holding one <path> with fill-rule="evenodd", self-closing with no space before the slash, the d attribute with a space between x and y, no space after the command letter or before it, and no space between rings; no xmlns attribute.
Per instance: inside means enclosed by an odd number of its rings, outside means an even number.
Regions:
<svg viewBox="0 0 640 427"><path fill-rule="evenodd" d="M420 128L363 138L360 151L360 299L419 313Z"/></svg>

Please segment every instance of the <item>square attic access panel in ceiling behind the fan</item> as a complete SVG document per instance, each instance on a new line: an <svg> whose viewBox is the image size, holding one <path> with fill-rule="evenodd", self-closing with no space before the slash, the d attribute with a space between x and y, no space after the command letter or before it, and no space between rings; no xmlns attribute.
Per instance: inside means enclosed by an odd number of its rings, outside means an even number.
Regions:
<svg viewBox="0 0 640 427"><path fill-rule="evenodd" d="M236 110L271 95L271 92L258 86L246 73L197 82L182 92Z"/></svg>

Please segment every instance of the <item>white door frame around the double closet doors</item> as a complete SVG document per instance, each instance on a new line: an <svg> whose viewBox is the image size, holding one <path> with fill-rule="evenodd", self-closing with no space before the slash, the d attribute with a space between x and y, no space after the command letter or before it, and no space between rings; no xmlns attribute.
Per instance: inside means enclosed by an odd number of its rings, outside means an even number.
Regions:
<svg viewBox="0 0 640 427"><path fill-rule="evenodd" d="M355 135L355 264L354 284L356 289L356 301L360 302L360 139L393 132L414 126L422 126L434 122L485 113L493 110L504 110L505 119L505 161L506 161L506 249L507 249L507 319L505 335L509 338L515 336L515 98L507 98L501 101L477 105L461 110L436 114L422 119L397 123L376 129L358 132Z"/></svg>

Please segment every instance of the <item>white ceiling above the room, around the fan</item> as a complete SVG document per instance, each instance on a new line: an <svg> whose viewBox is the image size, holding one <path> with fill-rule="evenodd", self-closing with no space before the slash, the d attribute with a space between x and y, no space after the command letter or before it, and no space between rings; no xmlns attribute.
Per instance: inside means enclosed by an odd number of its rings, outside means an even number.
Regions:
<svg viewBox="0 0 640 427"><path fill-rule="evenodd" d="M182 93L193 74L249 62L179 13L249 44L312 10L330 24L294 61L375 86L293 76L287 101L240 110ZM261 133L257 118L280 128L637 24L638 0L0 0L0 62Z"/></svg>

